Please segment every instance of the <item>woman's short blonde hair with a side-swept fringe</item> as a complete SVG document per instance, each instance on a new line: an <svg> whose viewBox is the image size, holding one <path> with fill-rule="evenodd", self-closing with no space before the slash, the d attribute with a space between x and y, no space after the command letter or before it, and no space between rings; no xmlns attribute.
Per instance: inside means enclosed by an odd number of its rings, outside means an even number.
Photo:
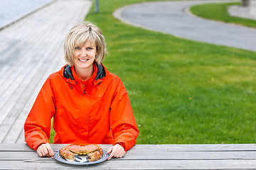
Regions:
<svg viewBox="0 0 256 170"><path fill-rule="evenodd" d="M66 35L64 42L64 57L68 64L75 64L75 47L81 47L88 40L97 47L95 63L100 64L102 62L107 53L105 38L102 35L100 28L97 28L93 23L86 21L84 23L78 23L71 28L68 35Z"/></svg>

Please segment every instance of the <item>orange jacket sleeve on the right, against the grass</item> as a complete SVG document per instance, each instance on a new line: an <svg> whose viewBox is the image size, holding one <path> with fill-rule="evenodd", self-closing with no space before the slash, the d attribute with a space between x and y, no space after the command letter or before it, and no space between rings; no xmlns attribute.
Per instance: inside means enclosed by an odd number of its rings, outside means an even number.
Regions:
<svg viewBox="0 0 256 170"><path fill-rule="evenodd" d="M139 130L127 91L121 80L118 82L110 108L110 128L114 145L119 143L127 151L136 144Z"/></svg>

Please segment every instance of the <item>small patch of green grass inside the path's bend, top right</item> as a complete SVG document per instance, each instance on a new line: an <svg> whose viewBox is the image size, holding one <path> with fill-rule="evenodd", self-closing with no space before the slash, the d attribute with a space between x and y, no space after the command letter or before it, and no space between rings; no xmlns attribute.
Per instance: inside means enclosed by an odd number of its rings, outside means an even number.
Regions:
<svg viewBox="0 0 256 170"><path fill-rule="evenodd" d="M223 21L225 23L235 23L242 26L256 28L256 21L247 18L240 18L230 16L228 13L228 6L240 6L240 2L236 3L221 3L221 4L201 4L191 7L191 12L196 16L208 18L215 21Z"/></svg>

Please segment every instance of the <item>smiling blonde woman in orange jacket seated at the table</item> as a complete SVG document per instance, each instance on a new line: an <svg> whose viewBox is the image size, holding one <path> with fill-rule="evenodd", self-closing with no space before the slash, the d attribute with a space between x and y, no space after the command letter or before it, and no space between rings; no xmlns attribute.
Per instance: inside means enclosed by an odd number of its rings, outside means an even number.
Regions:
<svg viewBox="0 0 256 170"><path fill-rule="evenodd" d="M65 38L68 62L43 84L24 125L25 140L40 157L53 157L48 139L53 118L54 143L112 144L112 157L123 157L139 130L122 81L102 64L102 31L90 22L70 29Z"/></svg>

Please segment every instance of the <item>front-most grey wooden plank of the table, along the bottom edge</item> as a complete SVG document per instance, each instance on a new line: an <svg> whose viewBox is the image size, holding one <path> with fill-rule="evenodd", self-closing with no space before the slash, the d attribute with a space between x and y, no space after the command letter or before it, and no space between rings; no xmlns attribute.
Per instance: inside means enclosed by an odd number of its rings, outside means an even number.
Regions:
<svg viewBox="0 0 256 170"><path fill-rule="evenodd" d="M255 169L256 161L177 161L177 160L124 160L111 159L100 164L78 166L63 164L55 159L46 158L38 162L0 161L0 169Z"/></svg>

